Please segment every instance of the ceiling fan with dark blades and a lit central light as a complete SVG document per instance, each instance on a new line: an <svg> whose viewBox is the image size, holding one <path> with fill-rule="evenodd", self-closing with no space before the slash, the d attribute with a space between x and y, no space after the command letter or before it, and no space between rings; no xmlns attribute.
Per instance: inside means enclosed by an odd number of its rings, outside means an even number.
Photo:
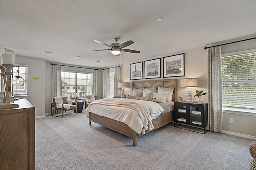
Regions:
<svg viewBox="0 0 256 170"><path fill-rule="evenodd" d="M112 54L114 54L116 57L120 56L121 51L124 52L129 52L129 53L140 53L140 51L136 50L129 50L129 49L124 49L124 47L127 47L129 45L132 45L134 42L133 41L126 41L125 43L119 44L116 43L118 41L118 38L114 38L115 43L112 43L110 45L107 45L105 43L102 43L101 41L94 40L97 43L100 43L102 45L105 45L107 47L110 47L110 49L103 49L103 50L92 50L92 51L104 51L104 50L110 50Z"/></svg>

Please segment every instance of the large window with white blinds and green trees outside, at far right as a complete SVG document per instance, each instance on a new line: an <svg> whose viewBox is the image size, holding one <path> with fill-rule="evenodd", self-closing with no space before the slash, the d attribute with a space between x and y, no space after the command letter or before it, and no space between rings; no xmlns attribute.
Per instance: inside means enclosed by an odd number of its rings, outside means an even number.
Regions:
<svg viewBox="0 0 256 170"><path fill-rule="evenodd" d="M222 55L222 106L256 110L256 51Z"/></svg>

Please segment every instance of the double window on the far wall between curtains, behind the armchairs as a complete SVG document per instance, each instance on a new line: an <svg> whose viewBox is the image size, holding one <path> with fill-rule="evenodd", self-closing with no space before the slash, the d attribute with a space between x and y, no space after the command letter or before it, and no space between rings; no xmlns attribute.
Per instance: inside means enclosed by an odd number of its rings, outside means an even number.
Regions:
<svg viewBox="0 0 256 170"><path fill-rule="evenodd" d="M64 87L62 88L62 96L84 98L86 95L91 95L92 74L62 71L61 80Z"/></svg>

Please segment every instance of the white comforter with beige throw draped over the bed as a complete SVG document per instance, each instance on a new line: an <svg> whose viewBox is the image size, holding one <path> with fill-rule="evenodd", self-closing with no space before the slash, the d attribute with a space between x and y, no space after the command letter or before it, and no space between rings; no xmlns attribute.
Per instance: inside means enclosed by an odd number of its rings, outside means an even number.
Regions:
<svg viewBox="0 0 256 170"><path fill-rule="evenodd" d="M136 133L154 129L152 119L157 118L164 109L156 102L125 98L105 98L95 100L85 109L89 112L125 123Z"/></svg>

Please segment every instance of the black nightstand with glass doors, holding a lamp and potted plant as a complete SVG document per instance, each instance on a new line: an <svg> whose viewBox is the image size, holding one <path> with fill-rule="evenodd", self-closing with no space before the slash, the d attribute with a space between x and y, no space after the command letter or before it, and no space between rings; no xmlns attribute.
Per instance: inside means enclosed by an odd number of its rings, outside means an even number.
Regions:
<svg viewBox="0 0 256 170"><path fill-rule="evenodd" d="M203 134L205 134L207 132L207 109L207 103L174 102L174 127L180 124L191 125L203 129Z"/></svg>

